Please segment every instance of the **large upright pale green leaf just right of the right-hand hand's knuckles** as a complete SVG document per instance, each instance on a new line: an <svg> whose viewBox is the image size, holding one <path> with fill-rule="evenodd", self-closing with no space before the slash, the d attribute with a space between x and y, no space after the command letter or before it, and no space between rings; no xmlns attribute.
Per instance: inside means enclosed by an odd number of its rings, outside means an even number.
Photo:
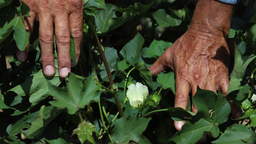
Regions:
<svg viewBox="0 0 256 144"><path fill-rule="evenodd" d="M254 54L251 54L250 56L242 56L240 49L241 48L238 48L238 46L235 46L235 64L227 89L227 99L230 99L230 96L228 96L230 92L242 88L241 81L244 77L246 67L254 58L256 58Z"/></svg>

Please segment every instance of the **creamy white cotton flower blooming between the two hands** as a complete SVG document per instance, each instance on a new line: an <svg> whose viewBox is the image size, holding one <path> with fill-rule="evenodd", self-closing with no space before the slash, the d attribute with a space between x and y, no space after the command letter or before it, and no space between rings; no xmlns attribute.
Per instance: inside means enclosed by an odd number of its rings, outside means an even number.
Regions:
<svg viewBox="0 0 256 144"><path fill-rule="evenodd" d="M144 100L148 96L148 87L137 82L135 84L130 84L127 90L127 98L130 101L132 107L138 107L144 103Z"/></svg>

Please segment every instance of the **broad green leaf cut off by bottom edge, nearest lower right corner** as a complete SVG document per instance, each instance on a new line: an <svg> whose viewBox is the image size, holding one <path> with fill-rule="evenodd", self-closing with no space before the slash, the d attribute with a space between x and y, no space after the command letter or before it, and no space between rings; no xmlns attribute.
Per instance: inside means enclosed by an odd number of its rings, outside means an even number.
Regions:
<svg viewBox="0 0 256 144"><path fill-rule="evenodd" d="M224 134L220 135L219 139L211 143L243 144L248 141L253 133L252 129L245 125L233 124L227 127Z"/></svg>

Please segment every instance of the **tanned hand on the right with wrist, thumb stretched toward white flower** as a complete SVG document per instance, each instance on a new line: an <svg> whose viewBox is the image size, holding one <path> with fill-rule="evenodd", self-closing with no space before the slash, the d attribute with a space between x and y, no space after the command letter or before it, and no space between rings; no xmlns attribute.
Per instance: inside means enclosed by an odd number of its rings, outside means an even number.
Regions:
<svg viewBox="0 0 256 144"><path fill-rule="evenodd" d="M233 6L215 0L199 0L187 32L160 56L148 69L152 75L173 69L176 75L175 107L187 109L189 92L195 95L197 86L226 95L229 84L229 49L227 37ZM232 104L232 115L239 118L239 107ZM195 105L192 112L197 112ZM175 121L181 130L184 121Z"/></svg>

